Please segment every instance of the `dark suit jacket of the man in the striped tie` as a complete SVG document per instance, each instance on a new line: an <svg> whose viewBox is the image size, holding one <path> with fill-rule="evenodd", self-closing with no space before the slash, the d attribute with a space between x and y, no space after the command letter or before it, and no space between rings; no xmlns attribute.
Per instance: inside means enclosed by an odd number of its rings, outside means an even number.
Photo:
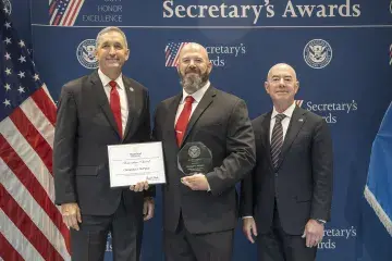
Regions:
<svg viewBox="0 0 392 261"><path fill-rule="evenodd" d="M302 235L309 219L330 220L332 142L322 117L295 108L283 141L279 167L270 153L271 113L253 121L256 166L242 183L241 214L253 215L258 233L272 225L274 197L285 233Z"/></svg>

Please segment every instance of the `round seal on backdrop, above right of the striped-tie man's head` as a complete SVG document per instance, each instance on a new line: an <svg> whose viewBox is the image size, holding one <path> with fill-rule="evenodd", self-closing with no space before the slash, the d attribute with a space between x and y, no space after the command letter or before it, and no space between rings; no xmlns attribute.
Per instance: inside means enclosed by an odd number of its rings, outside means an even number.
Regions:
<svg viewBox="0 0 392 261"><path fill-rule="evenodd" d="M313 69L323 69L332 60L332 48L322 39L313 39L304 48L304 60Z"/></svg>

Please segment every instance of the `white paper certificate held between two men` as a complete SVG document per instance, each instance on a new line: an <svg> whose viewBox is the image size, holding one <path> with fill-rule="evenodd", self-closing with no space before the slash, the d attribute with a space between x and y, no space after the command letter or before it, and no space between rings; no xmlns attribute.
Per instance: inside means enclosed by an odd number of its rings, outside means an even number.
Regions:
<svg viewBox="0 0 392 261"><path fill-rule="evenodd" d="M110 187L166 183L162 142L108 146Z"/></svg>

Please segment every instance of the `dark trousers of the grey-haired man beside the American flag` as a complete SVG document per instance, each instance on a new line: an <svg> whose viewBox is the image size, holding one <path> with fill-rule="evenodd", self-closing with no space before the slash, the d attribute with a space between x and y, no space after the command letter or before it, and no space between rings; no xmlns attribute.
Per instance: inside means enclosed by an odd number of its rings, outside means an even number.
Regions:
<svg viewBox="0 0 392 261"><path fill-rule="evenodd" d="M142 207L142 209L140 209ZM143 203L126 209L122 199L112 215L83 215L79 231L71 228L73 261L102 261L108 233L114 261L138 261L143 236Z"/></svg>

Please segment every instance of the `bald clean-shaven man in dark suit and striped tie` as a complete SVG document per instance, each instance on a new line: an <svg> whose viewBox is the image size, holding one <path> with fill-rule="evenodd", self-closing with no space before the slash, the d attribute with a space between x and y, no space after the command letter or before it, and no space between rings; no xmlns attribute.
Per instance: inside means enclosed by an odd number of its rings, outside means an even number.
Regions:
<svg viewBox="0 0 392 261"><path fill-rule="evenodd" d="M242 183L241 214L259 260L314 261L332 199L332 142L321 116L296 107L293 67L265 83L272 111L255 119L256 166Z"/></svg>

